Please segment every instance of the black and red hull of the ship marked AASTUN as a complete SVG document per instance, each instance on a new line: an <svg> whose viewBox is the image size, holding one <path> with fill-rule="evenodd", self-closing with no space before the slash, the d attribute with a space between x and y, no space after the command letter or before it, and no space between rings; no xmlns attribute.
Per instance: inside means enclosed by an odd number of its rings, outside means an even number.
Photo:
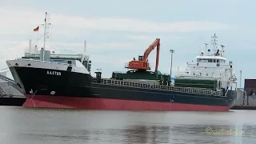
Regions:
<svg viewBox="0 0 256 144"><path fill-rule="evenodd" d="M236 91L225 96L190 93L170 86L149 86L134 82L101 79L89 73L46 66L25 66L7 61L15 82L26 93L26 107L74 108L87 110L201 110L227 111L234 106ZM31 63L31 62L30 62ZM40 63L40 62L39 62ZM66 69L66 70L65 70ZM200 94L201 93L201 94Z"/></svg>

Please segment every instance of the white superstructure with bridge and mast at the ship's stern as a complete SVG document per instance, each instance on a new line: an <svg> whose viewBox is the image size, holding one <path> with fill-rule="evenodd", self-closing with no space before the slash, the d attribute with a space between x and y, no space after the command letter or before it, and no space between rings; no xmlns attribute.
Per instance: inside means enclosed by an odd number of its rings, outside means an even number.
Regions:
<svg viewBox="0 0 256 144"><path fill-rule="evenodd" d="M224 56L224 47L217 46L216 35L212 36L212 49L206 44L206 51L202 51L195 58L195 61L187 62L187 68L180 73L177 78L200 78L217 79L221 82L219 88L231 90L233 84L236 84L233 62L227 62Z"/></svg>

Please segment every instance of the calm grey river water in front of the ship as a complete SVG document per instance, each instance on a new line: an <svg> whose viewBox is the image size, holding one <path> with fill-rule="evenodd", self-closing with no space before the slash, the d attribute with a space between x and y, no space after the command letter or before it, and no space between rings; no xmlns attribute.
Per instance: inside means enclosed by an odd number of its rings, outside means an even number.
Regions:
<svg viewBox="0 0 256 144"><path fill-rule="evenodd" d="M25 143L254 143L256 111L227 113L31 110L0 107L0 140ZM243 135L206 134L238 130Z"/></svg>

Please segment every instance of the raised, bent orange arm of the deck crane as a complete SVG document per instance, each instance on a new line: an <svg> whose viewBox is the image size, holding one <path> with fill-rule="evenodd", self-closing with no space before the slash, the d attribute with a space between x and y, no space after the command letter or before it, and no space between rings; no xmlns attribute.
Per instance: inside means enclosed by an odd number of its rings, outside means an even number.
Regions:
<svg viewBox="0 0 256 144"><path fill-rule="evenodd" d="M154 47L157 46L157 57L155 59L155 71L158 70L158 62L159 62L159 52L160 52L160 38L156 38L156 40L146 49L143 55L143 61L146 62L147 58L149 57L149 54L152 50L154 50Z"/></svg>

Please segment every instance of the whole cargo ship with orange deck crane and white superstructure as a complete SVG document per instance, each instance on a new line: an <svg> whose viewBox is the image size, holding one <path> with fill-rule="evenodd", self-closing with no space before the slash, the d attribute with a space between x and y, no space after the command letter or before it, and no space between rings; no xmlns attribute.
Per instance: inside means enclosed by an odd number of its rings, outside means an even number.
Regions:
<svg viewBox="0 0 256 144"><path fill-rule="evenodd" d="M46 21L45 21L46 22ZM45 23L46 26L46 23ZM45 36L46 38L46 36ZM85 55L50 54L43 46L39 54L6 61L15 82L26 94L25 107L85 110L195 110L227 111L236 100L233 63L226 63L223 46L201 52L187 70L170 82L170 74L158 71L160 38L138 60L127 63L126 72L90 74ZM45 42L45 41L44 41ZM150 71L148 56L157 48L156 66Z"/></svg>

